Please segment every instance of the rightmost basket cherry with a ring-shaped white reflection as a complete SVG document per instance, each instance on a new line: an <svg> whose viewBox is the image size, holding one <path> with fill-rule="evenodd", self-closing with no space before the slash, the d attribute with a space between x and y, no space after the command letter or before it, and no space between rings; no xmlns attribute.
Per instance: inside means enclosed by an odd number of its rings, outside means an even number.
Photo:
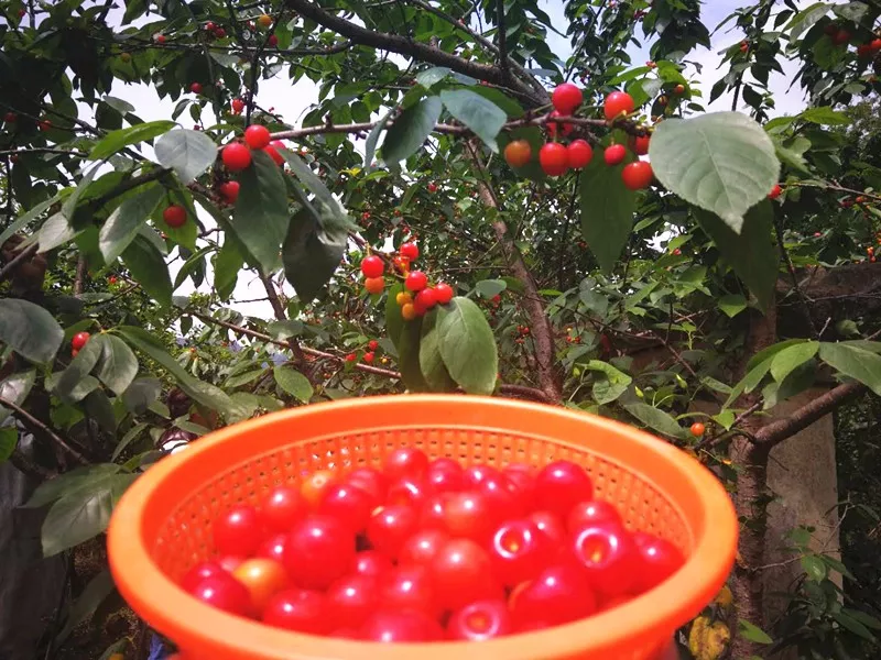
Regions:
<svg viewBox="0 0 881 660"><path fill-rule="evenodd" d="M583 527L573 537L578 565L595 591L605 598L628 594L639 573L639 550L630 532L616 524Z"/></svg>

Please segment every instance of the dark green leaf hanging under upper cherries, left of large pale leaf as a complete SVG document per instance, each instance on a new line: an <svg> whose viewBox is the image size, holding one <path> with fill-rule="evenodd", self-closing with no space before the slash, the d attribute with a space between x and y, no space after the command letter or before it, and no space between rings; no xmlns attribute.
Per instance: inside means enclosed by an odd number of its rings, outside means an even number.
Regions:
<svg viewBox="0 0 881 660"><path fill-rule="evenodd" d="M637 194L624 186L621 170L634 158L628 152L624 163L609 167L597 153L578 180L581 235L607 273L614 268L633 228Z"/></svg>

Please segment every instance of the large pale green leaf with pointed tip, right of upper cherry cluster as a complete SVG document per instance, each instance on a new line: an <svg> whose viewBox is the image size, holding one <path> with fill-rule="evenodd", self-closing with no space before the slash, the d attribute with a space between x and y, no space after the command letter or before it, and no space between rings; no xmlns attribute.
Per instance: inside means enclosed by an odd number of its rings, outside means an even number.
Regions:
<svg viewBox="0 0 881 660"><path fill-rule="evenodd" d="M762 127L740 112L668 119L655 129L649 155L672 193L721 218L736 234L743 216L777 183L780 161Z"/></svg>

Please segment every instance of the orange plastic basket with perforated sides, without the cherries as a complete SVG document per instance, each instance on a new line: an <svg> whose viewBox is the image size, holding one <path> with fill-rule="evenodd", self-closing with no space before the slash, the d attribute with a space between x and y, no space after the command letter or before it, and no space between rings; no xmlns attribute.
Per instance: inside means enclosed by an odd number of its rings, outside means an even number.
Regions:
<svg viewBox="0 0 881 660"><path fill-rule="evenodd" d="M469 464L556 459L590 473L631 529L676 543L686 564L630 603L583 622L479 644L381 645L298 635L214 609L176 582L213 552L211 521L318 469L379 466L401 446ZM563 408L472 396L317 404L216 431L163 459L120 501L110 568L123 597L187 660L648 660L697 615L733 562L738 524L721 484L642 431Z"/></svg>

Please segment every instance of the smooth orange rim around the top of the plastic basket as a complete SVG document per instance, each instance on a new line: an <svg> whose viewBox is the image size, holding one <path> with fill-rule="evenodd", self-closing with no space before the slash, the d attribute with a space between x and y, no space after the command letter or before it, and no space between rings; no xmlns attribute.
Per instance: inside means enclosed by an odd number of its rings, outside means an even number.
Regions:
<svg viewBox="0 0 881 660"><path fill-rule="evenodd" d="M663 584L613 610L564 626L477 645L461 641L379 645L271 628L260 622L237 617L198 602L167 578L151 558L149 541L143 538L143 527L152 495L170 475L193 461L199 461L206 454L216 453L218 447L235 441L242 432L268 429L280 422L292 425L300 418L333 410L351 416L354 427L370 430L380 427L371 427L369 417L361 421L358 413L366 407L369 406L369 410L376 413L377 406L395 408L420 405L460 406L466 413L468 409L492 409L502 415L505 409L511 413L516 409L520 413L544 416L548 420L556 418L568 425L579 424L586 429L602 429L617 436L622 442L638 446L640 452L651 455L652 461L660 461L665 469L675 471L676 479L682 480L684 487L688 486L693 494L699 493L697 501L703 505L701 532L695 534L692 530L694 549L690 557ZM450 424L468 426L458 420ZM553 435L546 437L553 439ZM569 443L568 440L562 441ZM592 448L591 451L601 455L601 452ZM633 471L639 472L638 469ZM650 481L670 497L665 488L650 479L645 481ZM676 507L681 504L672 497L671 502ZM311 404L272 413L208 433L186 451L163 459L141 475L117 505L108 528L108 559L120 593L144 620L181 645L182 650L205 649L198 652L205 653L204 657L211 660L412 660L415 657L439 660L450 654L457 660L562 660L579 657L579 652L585 649L596 653L590 657L611 658L607 653L620 649L626 641L638 644L639 640L651 642L668 638L677 627L699 614L721 588L733 564L737 537L737 515L722 484L685 452L637 428L562 407L515 399L461 395L384 395ZM225 631L222 639L217 636L217 630Z"/></svg>

